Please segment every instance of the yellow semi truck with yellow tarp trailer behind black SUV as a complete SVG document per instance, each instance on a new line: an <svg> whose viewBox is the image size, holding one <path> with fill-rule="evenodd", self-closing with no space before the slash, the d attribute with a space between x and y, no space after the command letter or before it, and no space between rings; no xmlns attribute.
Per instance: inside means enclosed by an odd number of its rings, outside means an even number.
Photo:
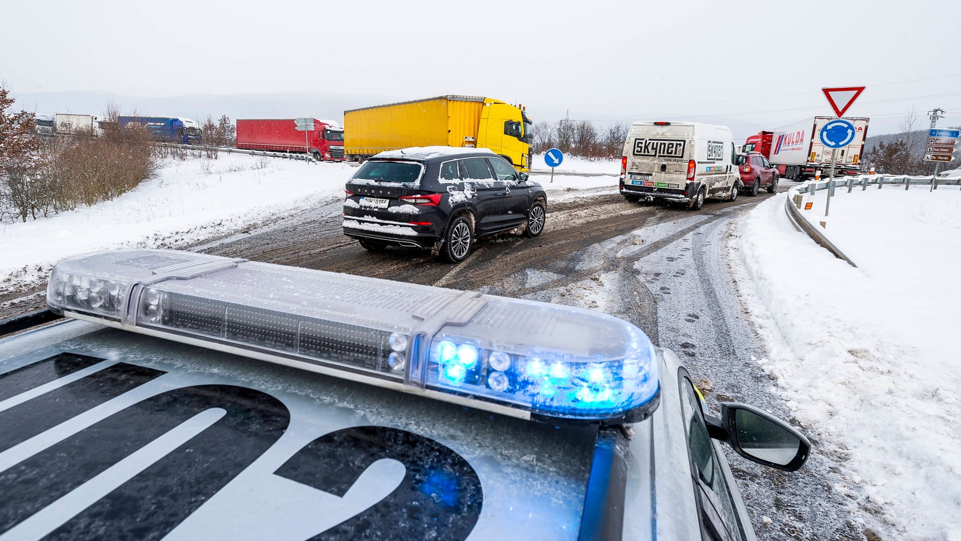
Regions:
<svg viewBox="0 0 961 541"><path fill-rule="evenodd" d="M408 146L489 148L518 170L530 167L530 118L489 97L446 95L344 112L344 153L363 161Z"/></svg>

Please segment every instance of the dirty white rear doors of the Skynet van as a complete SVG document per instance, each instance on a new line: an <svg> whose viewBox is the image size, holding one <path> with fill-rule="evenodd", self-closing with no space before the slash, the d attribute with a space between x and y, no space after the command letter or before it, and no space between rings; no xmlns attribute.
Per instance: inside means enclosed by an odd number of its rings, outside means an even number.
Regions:
<svg viewBox="0 0 961 541"><path fill-rule="evenodd" d="M693 136L690 125L632 126L625 147L625 184L650 187L653 192L683 192L687 161L694 152Z"/></svg>

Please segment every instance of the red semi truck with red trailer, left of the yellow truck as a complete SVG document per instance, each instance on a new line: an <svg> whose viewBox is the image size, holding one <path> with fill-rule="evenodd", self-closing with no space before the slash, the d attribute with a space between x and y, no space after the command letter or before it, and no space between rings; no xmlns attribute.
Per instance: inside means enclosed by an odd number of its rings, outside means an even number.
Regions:
<svg viewBox="0 0 961 541"><path fill-rule="evenodd" d="M314 118L312 132L297 130L293 118L239 118L237 148L275 152L309 149L314 160L343 162L344 128L329 118Z"/></svg>

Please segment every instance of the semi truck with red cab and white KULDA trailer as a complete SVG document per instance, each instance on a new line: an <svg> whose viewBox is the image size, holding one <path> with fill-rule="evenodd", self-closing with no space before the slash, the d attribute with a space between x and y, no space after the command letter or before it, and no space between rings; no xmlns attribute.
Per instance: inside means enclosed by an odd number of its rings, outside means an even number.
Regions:
<svg viewBox="0 0 961 541"><path fill-rule="evenodd" d="M744 142L745 152L760 152L777 167L780 176L791 180L813 178L815 172L826 175L830 169L831 151L818 138L821 128L833 116L815 116L781 126L773 132L761 131ZM861 168L864 140L868 136L869 118L846 118L854 125L854 140L837 152L835 174L857 174Z"/></svg>

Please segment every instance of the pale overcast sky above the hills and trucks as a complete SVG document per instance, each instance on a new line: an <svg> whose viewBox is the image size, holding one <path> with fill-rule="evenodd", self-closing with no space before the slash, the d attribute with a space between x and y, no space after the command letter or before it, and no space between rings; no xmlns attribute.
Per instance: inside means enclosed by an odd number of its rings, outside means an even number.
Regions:
<svg viewBox="0 0 961 541"><path fill-rule="evenodd" d="M3 12L0 79L17 92L464 93L523 103L535 120L570 110L745 134L828 114L822 87L867 85L849 116L871 116L875 134L912 107L924 126L934 107L949 110L942 125L961 124L961 3L944 0L21 1Z"/></svg>

